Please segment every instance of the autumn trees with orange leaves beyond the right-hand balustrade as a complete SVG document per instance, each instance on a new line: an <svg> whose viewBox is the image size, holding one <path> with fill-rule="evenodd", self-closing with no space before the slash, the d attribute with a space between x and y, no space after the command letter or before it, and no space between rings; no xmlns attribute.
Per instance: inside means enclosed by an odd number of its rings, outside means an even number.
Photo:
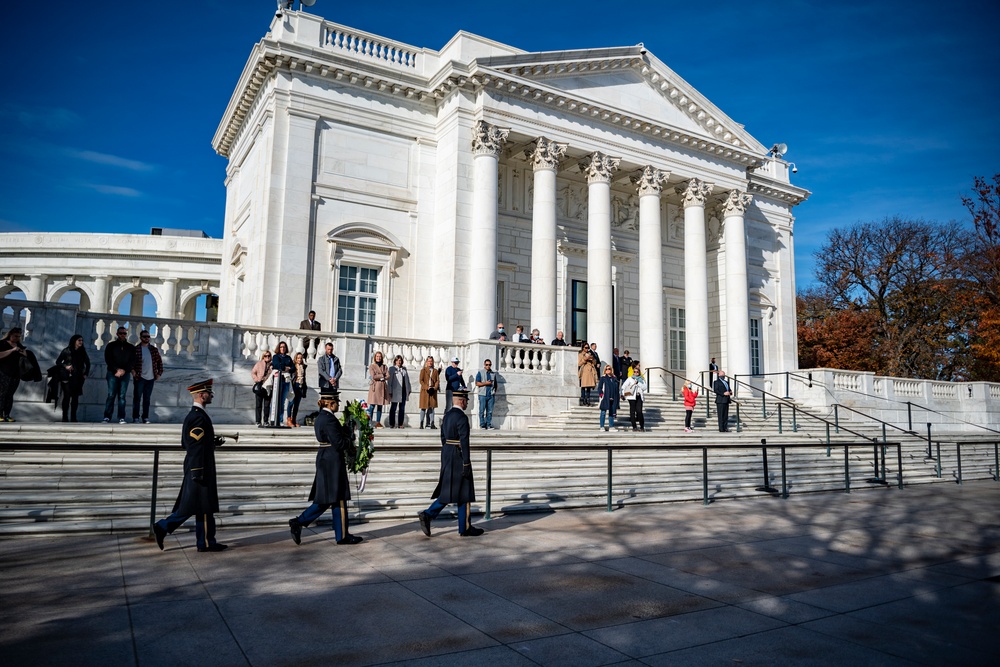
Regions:
<svg viewBox="0 0 1000 667"><path fill-rule="evenodd" d="M1000 380L1000 174L974 191L974 230L894 217L830 233L798 298L800 367Z"/></svg>

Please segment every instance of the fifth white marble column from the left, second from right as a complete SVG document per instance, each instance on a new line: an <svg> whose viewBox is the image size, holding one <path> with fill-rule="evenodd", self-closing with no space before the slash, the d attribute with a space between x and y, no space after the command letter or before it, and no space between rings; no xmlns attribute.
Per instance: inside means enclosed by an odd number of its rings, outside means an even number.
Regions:
<svg viewBox="0 0 1000 667"><path fill-rule="evenodd" d="M692 178L677 188L684 198L684 311L687 365L684 376L702 381L708 370L708 252L705 245L705 200L712 184ZM723 369L728 371L729 369ZM704 376L708 381L708 375Z"/></svg>

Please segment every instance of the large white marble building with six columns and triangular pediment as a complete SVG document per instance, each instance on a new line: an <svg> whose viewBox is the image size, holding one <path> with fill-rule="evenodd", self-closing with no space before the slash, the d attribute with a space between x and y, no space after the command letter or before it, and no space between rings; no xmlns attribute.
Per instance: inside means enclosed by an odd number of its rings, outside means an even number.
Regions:
<svg viewBox="0 0 1000 667"><path fill-rule="evenodd" d="M220 321L463 341L503 321L647 368L796 367L788 163L642 45L440 51L302 12L254 48Z"/></svg>

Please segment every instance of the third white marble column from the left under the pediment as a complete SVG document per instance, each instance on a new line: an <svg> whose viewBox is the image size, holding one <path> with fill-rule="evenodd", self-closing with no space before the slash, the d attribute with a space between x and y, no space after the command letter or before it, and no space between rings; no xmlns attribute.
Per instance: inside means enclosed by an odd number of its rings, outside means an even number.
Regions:
<svg viewBox="0 0 1000 667"><path fill-rule="evenodd" d="M593 153L580 163L587 175L587 338L601 359L611 358L614 292L611 286L611 175L621 158Z"/></svg>

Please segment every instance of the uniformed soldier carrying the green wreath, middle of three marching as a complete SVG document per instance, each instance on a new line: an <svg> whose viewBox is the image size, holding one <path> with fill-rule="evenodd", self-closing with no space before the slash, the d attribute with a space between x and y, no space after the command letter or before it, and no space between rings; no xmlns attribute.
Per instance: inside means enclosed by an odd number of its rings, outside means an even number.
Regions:
<svg viewBox="0 0 1000 667"><path fill-rule="evenodd" d="M313 504L299 516L288 520L292 539L302 543L302 529L333 508L333 531L337 544L357 544L364 538L351 535L348 530L347 501L351 487L347 481L347 463L344 452L353 446L353 434L340 423L336 412L340 407L340 394L336 389L323 389L317 405L320 407L314 428L319 451L316 452L316 478L313 480L309 500Z"/></svg>

